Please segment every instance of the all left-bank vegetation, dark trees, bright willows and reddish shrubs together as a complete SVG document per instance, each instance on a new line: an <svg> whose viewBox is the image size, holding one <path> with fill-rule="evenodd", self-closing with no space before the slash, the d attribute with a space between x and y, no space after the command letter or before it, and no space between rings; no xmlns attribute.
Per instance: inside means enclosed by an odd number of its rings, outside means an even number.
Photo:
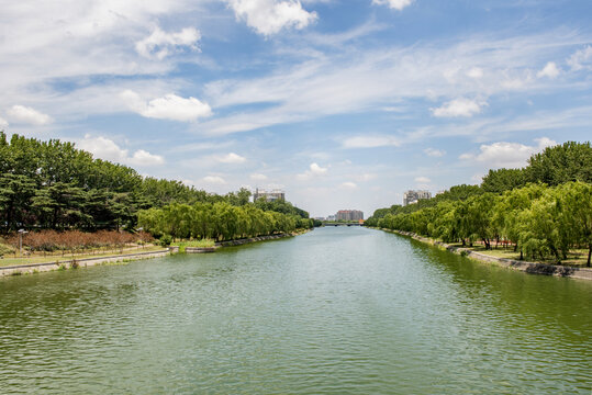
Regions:
<svg viewBox="0 0 592 395"><path fill-rule="evenodd" d="M142 177L71 143L0 132L0 268L104 258L155 241L267 237L314 225L290 202L250 202L246 189L209 193Z"/></svg>

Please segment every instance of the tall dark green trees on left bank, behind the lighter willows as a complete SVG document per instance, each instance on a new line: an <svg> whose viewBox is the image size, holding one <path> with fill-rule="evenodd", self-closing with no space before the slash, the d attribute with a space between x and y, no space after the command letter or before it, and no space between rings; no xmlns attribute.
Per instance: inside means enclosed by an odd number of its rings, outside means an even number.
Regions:
<svg viewBox="0 0 592 395"><path fill-rule="evenodd" d="M141 211L170 204L243 206L250 192L208 193L180 181L142 177L94 159L72 143L47 142L0 131L0 232L25 229L133 229ZM288 202L257 202L264 211L308 218ZM222 207L217 205L216 207Z"/></svg>

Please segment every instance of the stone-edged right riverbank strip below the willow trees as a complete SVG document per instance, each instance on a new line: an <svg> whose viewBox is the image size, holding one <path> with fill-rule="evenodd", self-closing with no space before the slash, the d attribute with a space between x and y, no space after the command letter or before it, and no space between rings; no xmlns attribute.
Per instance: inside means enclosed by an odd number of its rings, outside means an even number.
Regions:
<svg viewBox="0 0 592 395"><path fill-rule="evenodd" d="M411 232L401 232L401 230L391 230L391 229L381 229L375 228L388 233L393 233L400 236L411 237L414 240L422 241L438 248L446 249L453 253L465 256L480 262L494 263L504 268L520 270L528 274L545 274L545 275L556 275L556 276L566 276L580 280L592 281L592 269L590 268L574 268L560 264L547 264L540 262L527 262L515 259L499 258L492 257L482 252L477 252L470 248L450 246L446 242L434 240L428 237L418 236Z"/></svg>

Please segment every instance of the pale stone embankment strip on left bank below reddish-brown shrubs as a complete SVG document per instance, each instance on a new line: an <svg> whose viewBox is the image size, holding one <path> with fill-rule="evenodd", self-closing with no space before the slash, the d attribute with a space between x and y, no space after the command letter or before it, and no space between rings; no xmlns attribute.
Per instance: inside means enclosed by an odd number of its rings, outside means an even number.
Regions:
<svg viewBox="0 0 592 395"><path fill-rule="evenodd" d="M46 271L53 271L53 270L59 270L59 269L88 268L96 264L115 263L115 262L122 262L122 261L127 261L127 260L158 258L158 257L164 257L167 255L169 255L169 250L165 249L165 250L159 250L159 251L126 253L126 255L118 255L118 256L111 256L111 257L81 258L81 259L72 259L72 260L59 261L59 262L19 264L19 266L0 268L0 276L46 272Z"/></svg>

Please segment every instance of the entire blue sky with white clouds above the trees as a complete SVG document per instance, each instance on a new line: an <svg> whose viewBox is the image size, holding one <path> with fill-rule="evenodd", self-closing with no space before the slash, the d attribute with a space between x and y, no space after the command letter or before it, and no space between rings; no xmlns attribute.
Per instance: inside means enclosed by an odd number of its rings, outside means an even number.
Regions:
<svg viewBox="0 0 592 395"><path fill-rule="evenodd" d="M590 0L0 0L0 129L312 216L592 136Z"/></svg>

